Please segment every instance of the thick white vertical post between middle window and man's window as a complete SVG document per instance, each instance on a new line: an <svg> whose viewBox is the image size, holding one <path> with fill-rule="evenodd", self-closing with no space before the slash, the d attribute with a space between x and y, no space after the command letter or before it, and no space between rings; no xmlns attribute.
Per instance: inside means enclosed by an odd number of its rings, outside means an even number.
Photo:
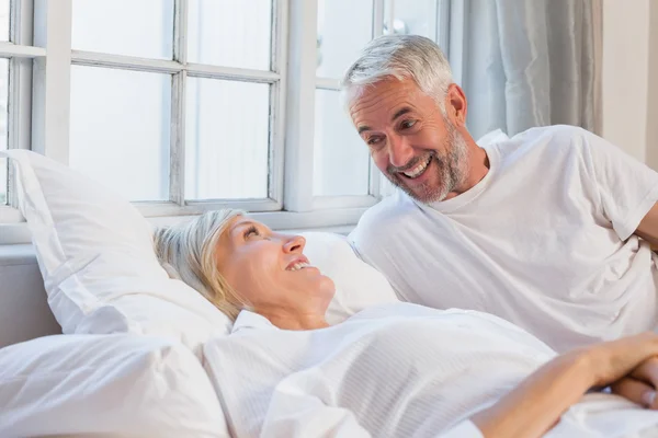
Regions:
<svg viewBox="0 0 658 438"><path fill-rule="evenodd" d="M317 1L291 0L284 207L313 208Z"/></svg>

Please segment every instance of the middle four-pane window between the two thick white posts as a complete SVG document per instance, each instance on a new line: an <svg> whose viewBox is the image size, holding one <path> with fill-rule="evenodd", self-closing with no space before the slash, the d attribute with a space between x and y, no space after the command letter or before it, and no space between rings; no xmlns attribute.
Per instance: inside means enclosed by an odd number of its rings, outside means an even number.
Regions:
<svg viewBox="0 0 658 438"><path fill-rule="evenodd" d="M280 209L275 7L72 0L69 164L155 215Z"/></svg>

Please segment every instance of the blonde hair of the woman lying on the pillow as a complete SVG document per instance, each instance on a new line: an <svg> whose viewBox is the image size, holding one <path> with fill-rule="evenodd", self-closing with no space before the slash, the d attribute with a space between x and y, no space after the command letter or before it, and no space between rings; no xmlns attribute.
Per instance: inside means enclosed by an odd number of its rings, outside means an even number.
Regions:
<svg viewBox="0 0 658 438"><path fill-rule="evenodd" d="M234 321L242 300L219 274L215 249L230 220L243 214L208 211L189 222L159 228L154 235L156 255L169 276L197 290Z"/></svg>

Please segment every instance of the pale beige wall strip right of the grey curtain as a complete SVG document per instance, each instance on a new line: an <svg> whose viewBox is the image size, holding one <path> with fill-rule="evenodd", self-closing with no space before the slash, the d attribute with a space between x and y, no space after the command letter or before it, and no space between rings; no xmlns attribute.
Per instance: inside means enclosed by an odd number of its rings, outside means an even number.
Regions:
<svg viewBox="0 0 658 438"><path fill-rule="evenodd" d="M603 0L603 137L658 169L658 4ZM653 76L651 76L653 73Z"/></svg>

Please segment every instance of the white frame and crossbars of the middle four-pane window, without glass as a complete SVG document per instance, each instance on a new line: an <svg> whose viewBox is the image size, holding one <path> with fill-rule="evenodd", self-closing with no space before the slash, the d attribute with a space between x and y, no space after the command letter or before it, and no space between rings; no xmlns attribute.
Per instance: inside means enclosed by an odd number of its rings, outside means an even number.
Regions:
<svg viewBox="0 0 658 438"><path fill-rule="evenodd" d="M124 55L110 55L102 53L72 50L71 49L71 15L72 0L36 0L35 21L43 15L45 26L35 28L35 42L47 49L48 61L45 69L35 71L35 84L44 83L38 88L35 101L44 102L44 123L36 124L35 134L44 136L43 141L35 145L45 145L45 155L68 164L69 154L69 127L70 127L70 72L71 66L88 66L115 68L124 70L138 70L152 73L172 74L171 100L171 139L170 139L170 199L168 201L134 203L146 217L189 216L219 208L240 208L248 211L276 211L281 209L282 177L281 165L283 155L283 129L281 114L283 114L285 100L285 84L281 80L284 76L285 58L282 59L281 42L285 34L282 32L282 18L285 16L285 1L274 2L272 26L272 71L259 71L241 68L218 67L188 62L186 34L188 34L188 0L174 1L174 38L173 60L158 60ZM54 30L50 32L50 30ZM53 55L55 54L55 55ZM70 54L70 55L69 55ZM37 61L38 62L38 61ZM45 74L38 73L45 72ZM184 187L184 153L183 141L185 131L185 85L186 78L208 78L224 80L241 80L251 83L270 84L270 150L271 162L269 171L269 188L266 199L248 200L185 200ZM63 87L66 83L68 87ZM281 96L281 99L280 99ZM54 107L55 106L55 107ZM66 108L64 111L63 108ZM36 110L36 107L35 107ZM49 124L56 113L59 113L58 123ZM55 126L54 126L55 125ZM38 137L36 137L38 138ZM46 142L47 141L47 142Z"/></svg>

